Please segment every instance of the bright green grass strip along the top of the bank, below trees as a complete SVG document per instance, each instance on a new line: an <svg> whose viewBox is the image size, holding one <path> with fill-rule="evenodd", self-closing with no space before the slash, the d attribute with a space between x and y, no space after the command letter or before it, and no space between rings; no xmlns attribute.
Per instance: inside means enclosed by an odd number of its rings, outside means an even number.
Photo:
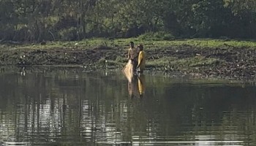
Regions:
<svg viewBox="0 0 256 146"><path fill-rule="evenodd" d="M136 37L129 39L106 39L106 38L92 38L83 39L75 42L47 42L47 45L40 44L25 44L25 45L0 45L1 50L15 50L15 49L86 49L98 46L108 47L129 47L129 42L135 42L135 45L143 44L145 48L170 47L170 46L195 46L195 47L256 47L255 41L243 40L226 40L226 39L178 39L178 40L159 40L147 37Z"/></svg>

